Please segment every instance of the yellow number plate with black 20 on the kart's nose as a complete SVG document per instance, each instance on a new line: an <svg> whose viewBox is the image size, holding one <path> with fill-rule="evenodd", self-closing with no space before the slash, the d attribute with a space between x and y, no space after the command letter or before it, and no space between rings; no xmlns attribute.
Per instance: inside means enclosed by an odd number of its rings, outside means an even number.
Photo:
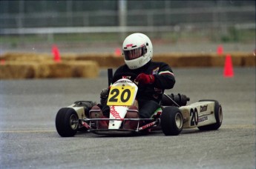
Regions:
<svg viewBox="0 0 256 169"><path fill-rule="evenodd" d="M107 105L133 105L134 93L135 87L132 86L112 86L108 95Z"/></svg>

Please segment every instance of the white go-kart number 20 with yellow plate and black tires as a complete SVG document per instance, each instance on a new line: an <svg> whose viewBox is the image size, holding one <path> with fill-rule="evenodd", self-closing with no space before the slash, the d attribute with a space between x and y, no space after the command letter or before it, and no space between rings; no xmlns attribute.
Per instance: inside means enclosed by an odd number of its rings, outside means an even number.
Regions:
<svg viewBox="0 0 256 169"><path fill-rule="evenodd" d="M200 130L217 130L223 120L222 107L216 100L204 99L187 105L189 98L183 94L163 94L160 108L149 119L125 118L128 107L136 103L138 86L130 79L119 79L111 84L113 73L108 69L110 107L108 119L91 116L93 101L77 101L61 108L56 114L56 130L60 136L74 136L77 131L86 130L96 134L148 133L163 130L165 136L177 136L183 128L198 127ZM135 112L139 113L140 112ZM99 126L100 121L108 122L107 128ZM126 128L125 122L136 122L137 127Z"/></svg>

